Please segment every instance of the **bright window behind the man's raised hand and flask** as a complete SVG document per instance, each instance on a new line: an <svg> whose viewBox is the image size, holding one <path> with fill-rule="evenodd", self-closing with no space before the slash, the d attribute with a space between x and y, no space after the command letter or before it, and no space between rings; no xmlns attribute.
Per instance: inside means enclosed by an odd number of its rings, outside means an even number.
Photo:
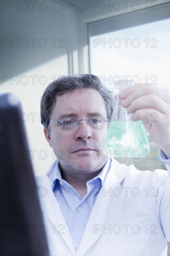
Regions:
<svg viewBox="0 0 170 256"><path fill-rule="evenodd" d="M98 75L107 88L114 91L114 81L121 79L170 87L169 5L93 22L88 31L90 72ZM157 146L150 143L148 156L128 159L127 163L135 163L140 169L141 165L143 169L158 168L157 151Z"/></svg>

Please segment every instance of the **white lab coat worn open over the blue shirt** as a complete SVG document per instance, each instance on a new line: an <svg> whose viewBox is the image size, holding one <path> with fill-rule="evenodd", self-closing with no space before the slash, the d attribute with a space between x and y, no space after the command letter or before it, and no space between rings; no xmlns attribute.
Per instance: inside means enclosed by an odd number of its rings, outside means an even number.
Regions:
<svg viewBox="0 0 170 256"><path fill-rule="evenodd" d="M166 240L170 241L167 171L138 171L113 160L77 251L48 176L37 177L37 185L51 256L166 255Z"/></svg>

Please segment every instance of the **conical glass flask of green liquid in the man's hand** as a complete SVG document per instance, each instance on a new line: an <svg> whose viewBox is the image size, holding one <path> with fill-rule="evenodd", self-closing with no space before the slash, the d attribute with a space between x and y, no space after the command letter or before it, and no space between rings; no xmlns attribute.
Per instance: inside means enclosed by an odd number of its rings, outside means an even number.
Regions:
<svg viewBox="0 0 170 256"><path fill-rule="evenodd" d="M130 86L130 80L115 81L115 107L105 140L104 150L107 155L120 159L144 157L149 151L149 141L144 124L137 113L127 113L119 102L118 93ZM134 121L137 115L137 121Z"/></svg>

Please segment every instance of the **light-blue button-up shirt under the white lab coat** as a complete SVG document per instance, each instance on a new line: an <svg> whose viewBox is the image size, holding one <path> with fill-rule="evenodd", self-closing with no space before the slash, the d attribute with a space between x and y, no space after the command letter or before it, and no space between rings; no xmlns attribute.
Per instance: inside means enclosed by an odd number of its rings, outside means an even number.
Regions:
<svg viewBox="0 0 170 256"><path fill-rule="evenodd" d="M87 194L82 199L78 192L68 182L62 179L59 163L55 168L52 178L52 190L65 218L75 249L78 248L81 242L85 226L98 192L105 181L109 166L110 160L105 163L104 168L98 176L86 182Z"/></svg>

